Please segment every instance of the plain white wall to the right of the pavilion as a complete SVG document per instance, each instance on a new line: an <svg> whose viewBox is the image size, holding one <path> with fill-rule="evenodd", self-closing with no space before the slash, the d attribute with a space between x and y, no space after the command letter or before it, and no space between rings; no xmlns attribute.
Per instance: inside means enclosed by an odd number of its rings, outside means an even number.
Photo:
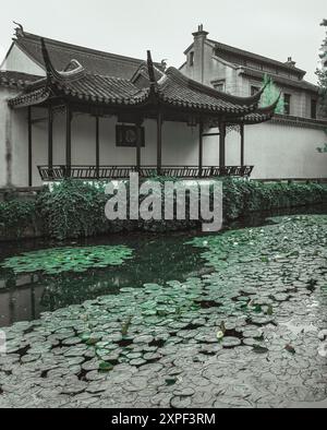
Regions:
<svg viewBox="0 0 327 430"><path fill-rule="evenodd" d="M245 127L245 164L255 166L253 179L327 178L327 138L322 130L275 123ZM240 164L240 134L227 138L227 164ZM215 156L215 153L213 153Z"/></svg>

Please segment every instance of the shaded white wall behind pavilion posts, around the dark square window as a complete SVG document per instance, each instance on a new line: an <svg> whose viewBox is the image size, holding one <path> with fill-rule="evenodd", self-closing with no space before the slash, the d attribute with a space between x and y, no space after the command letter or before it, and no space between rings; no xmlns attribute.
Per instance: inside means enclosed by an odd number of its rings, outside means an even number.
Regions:
<svg viewBox="0 0 327 430"><path fill-rule="evenodd" d="M33 109L33 119L46 119L47 111ZM100 164L132 165L136 164L136 148L116 146L117 118L101 118L100 127ZM13 184L26 187L27 168L27 109L12 111L12 171ZM157 164L157 124L146 120L145 147L142 148L142 164ZM95 118L88 115L74 114L72 121L72 164L96 164L96 126ZM4 145L1 138L1 148ZM33 186L41 184L37 166L48 163L48 124L47 120L33 124ZM3 158L3 157L2 157ZM4 158L2 165L4 166ZM162 165L197 165L198 163L198 129L186 124L165 122L162 132ZM65 164L65 117L56 115L53 122L53 164ZM2 170L2 169L1 169ZM4 179L1 186L4 184Z"/></svg>

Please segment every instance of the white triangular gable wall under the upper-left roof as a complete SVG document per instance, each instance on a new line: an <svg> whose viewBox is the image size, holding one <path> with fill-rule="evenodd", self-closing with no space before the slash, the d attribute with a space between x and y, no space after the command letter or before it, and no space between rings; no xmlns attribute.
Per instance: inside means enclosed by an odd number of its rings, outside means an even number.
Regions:
<svg viewBox="0 0 327 430"><path fill-rule="evenodd" d="M1 64L1 70L11 72L22 72L35 74L37 76L46 76L44 69L33 61L22 49L15 44L12 46L8 57Z"/></svg>

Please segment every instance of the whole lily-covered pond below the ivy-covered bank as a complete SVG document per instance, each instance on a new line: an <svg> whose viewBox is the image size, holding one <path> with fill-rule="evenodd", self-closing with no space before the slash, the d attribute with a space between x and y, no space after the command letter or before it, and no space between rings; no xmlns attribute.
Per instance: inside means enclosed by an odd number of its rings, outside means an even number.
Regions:
<svg viewBox="0 0 327 430"><path fill-rule="evenodd" d="M283 215L60 243L119 247L97 270L3 270L0 407L326 407L327 208Z"/></svg>

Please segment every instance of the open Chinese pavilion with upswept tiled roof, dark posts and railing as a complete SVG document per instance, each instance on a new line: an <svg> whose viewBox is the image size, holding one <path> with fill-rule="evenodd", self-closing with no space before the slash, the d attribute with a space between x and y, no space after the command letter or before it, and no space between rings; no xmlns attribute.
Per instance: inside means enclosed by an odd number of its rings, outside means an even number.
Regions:
<svg viewBox="0 0 327 430"><path fill-rule="evenodd" d="M80 179L124 179L131 171L138 171L143 177L154 175L180 178L210 178L219 176L250 177L253 166L244 164L244 126L256 124L272 118L278 100L271 106L259 107L262 88L251 97L232 96L203 85L182 74L174 68L165 70L153 63L148 51L147 61L138 67L131 79L113 77L93 73L81 62L72 59L63 71L53 67L47 44L41 39L41 52L46 67L46 77L34 80L24 85L23 91L9 100L12 109L27 110L28 150L28 184L34 178L35 135L33 124L37 109L47 112L47 156L38 164L43 181L57 181L63 178ZM87 154L92 162L76 164L72 153L72 121L75 117L87 115L93 118L93 139L87 142ZM55 118L64 124L63 163L58 159L53 146ZM118 147L134 147L134 163L126 163L124 156L120 164L104 165L100 126L102 118L114 117L113 130L108 134L116 135ZM147 144L144 122L150 120L153 129L150 139L154 143L153 159L156 164L148 165L143 160L143 151ZM179 133L171 131L165 136L165 124L186 124L197 135L196 165L185 166L180 162L167 165L162 160L165 141L169 140L170 159L173 151L179 147ZM81 124L83 127L83 124ZM240 163L237 166L226 165L226 135L228 131L238 129L241 135ZM181 129L180 128L180 132ZM217 130L213 132L213 130ZM89 130L87 130L89 132ZM204 163L204 139L217 135L219 165L208 166ZM74 143L78 153L78 141ZM81 152L84 151L81 146ZM106 150L107 151L107 150ZM129 158L130 159L130 158ZM95 163L94 163L95 162Z"/></svg>

